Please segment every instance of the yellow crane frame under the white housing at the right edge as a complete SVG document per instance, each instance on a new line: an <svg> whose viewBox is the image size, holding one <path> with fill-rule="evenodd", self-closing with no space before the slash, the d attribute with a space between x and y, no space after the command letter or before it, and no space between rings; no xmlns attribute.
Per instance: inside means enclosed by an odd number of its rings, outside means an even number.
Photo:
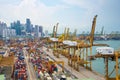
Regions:
<svg viewBox="0 0 120 80"><path fill-rule="evenodd" d="M94 58L104 58L105 60L105 79L106 80L120 80L120 74L119 74L119 64L120 64L120 61L119 61L119 58L120 58L120 51L115 51L114 54L96 54L96 55L93 55L93 56L90 56L90 57L94 57ZM109 70L108 70L108 60L111 59L112 61L115 60L115 67L113 68L112 72L109 74ZM113 72L116 72L116 77L110 77L111 74Z"/></svg>

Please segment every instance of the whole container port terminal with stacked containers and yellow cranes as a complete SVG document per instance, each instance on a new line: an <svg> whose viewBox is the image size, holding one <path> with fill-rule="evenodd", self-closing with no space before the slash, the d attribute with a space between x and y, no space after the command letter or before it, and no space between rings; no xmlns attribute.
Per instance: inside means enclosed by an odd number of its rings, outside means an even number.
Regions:
<svg viewBox="0 0 120 80"><path fill-rule="evenodd" d="M51 37L10 39L0 41L0 80L120 80L120 50L108 44L95 44L97 15L88 36L77 38L77 29L70 34L57 35L59 23L53 27ZM97 46L93 54L93 46ZM92 69L96 58L105 60L105 76ZM109 61L115 62L115 76L110 77Z"/></svg>

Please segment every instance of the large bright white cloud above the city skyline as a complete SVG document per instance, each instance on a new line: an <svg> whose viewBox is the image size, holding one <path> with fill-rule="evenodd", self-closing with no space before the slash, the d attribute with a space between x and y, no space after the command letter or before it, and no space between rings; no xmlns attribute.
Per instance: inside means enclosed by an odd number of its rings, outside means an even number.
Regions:
<svg viewBox="0 0 120 80"><path fill-rule="evenodd" d="M0 5L1 18L7 23L30 18L33 24L51 26L55 12L66 8L64 5L47 6L38 0L22 0L18 5ZM47 27L48 28L48 27Z"/></svg>

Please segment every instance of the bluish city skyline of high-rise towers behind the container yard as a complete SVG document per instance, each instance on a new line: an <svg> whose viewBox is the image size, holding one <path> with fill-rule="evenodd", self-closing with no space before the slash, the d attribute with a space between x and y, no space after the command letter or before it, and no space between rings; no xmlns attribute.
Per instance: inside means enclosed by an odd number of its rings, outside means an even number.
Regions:
<svg viewBox="0 0 120 80"><path fill-rule="evenodd" d="M31 20L26 18L25 23L20 20L10 23L8 27L6 23L0 21L0 38L13 37L43 37L43 26L31 24Z"/></svg>

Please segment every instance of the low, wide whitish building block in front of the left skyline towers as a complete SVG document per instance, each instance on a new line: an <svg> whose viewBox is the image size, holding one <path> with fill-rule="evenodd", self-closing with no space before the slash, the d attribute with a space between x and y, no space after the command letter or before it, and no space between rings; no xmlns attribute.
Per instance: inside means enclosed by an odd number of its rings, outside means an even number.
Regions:
<svg viewBox="0 0 120 80"><path fill-rule="evenodd" d="M16 36L16 31L15 29L3 29L2 31L4 38L6 37L15 37Z"/></svg>

